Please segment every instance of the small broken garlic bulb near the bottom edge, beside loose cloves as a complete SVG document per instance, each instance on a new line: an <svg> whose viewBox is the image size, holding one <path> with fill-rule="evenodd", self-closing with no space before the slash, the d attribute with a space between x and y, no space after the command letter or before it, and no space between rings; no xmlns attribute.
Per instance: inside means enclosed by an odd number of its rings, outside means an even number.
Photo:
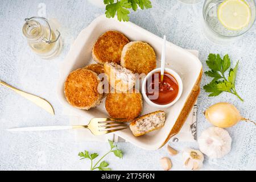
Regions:
<svg viewBox="0 0 256 182"><path fill-rule="evenodd" d="M199 170L203 167L204 154L199 150L186 148L182 154L184 167L192 170Z"/></svg>

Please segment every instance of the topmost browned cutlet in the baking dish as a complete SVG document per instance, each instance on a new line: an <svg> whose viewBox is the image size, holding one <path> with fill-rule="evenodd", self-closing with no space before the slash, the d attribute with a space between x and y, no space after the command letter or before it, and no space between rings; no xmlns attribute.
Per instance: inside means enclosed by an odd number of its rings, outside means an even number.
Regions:
<svg viewBox="0 0 256 182"><path fill-rule="evenodd" d="M98 63L120 64L123 47L129 43L125 35L117 31L108 31L98 38L92 49L92 57Z"/></svg>

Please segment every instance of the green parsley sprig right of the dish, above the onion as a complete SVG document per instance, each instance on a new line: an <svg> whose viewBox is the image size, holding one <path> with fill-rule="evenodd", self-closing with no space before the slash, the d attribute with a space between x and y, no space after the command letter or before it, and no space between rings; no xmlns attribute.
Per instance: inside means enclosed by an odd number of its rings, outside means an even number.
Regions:
<svg viewBox="0 0 256 182"><path fill-rule="evenodd" d="M209 92L209 97L220 95L222 92L228 92L236 95L241 101L243 99L238 95L236 90L236 76L238 71L238 64L234 69L230 68L229 55L225 55L221 59L220 55L210 53L206 61L211 71L205 72L205 75L212 77L213 80L204 86L205 92ZM230 68L230 69L229 69ZM229 69L228 78L225 77L225 72Z"/></svg>

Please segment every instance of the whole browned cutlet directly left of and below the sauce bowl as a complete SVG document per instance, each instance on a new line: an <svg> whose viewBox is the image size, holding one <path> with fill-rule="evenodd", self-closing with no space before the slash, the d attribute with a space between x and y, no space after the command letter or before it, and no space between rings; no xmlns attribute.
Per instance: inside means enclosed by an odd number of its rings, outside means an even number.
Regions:
<svg viewBox="0 0 256 182"><path fill-rule="evenodd" d="M135 89L129 93L110 93L106 97L105 107L111 118L123 119L123 122L131 121L142 112L141 93Z"/></svg>

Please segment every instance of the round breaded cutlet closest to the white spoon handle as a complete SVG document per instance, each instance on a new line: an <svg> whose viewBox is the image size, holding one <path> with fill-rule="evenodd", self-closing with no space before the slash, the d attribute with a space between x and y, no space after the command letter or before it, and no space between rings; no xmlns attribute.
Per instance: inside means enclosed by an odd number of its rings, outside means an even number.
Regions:
<svg viewBox="0 0 256 182"><path fill-rule="evenodd" d="M155 51L147 43L130 42L123 47L121 65L133 73L145 73L147 75L156 68Z"/></svg>

